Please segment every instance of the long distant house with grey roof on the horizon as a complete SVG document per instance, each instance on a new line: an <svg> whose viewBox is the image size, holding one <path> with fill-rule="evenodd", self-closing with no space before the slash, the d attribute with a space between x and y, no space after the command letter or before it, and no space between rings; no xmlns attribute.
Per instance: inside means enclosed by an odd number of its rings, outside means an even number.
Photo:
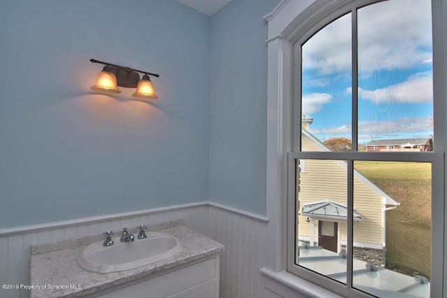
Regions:
<svg viewBox="0 0 447 298"><path fill-rule="evenodd" d="M365 145L366 152L377 151L432 151L432 136L424 139L374 140Z"/></svg>

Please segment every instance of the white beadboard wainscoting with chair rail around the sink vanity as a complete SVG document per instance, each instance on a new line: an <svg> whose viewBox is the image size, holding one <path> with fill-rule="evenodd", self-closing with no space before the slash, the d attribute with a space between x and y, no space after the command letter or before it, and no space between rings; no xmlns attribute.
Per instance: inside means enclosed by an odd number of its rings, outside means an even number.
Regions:
<svg viewBox="0 0 447 298"><path fill-rule="evenodd" d="M155 210L155 209L154 209ZM4 290L1 285L30 285L31 246L101 234L123 227L154 225L183 220L184 225L223 243L221 253L220 297L265 297L260 269L265 260L265 227L268 218L204 201L182 206L147 210L131 216L103 215L73 222L0 230L0 298L28 298L28 290ZM124 214L124 213L123 213ZM59 225L59 228L58 228ZM74 281L73 281L74 282Z"/></svg>

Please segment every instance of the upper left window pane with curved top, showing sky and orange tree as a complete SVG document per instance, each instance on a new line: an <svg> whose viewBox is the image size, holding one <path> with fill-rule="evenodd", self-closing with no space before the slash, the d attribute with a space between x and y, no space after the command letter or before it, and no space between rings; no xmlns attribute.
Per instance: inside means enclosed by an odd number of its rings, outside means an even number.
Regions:
<svg viewBox="0 0 447 298"><path fill-rule="evenodd" d="M351 13L302 45L302 139L325 142L323 150L351 148ZM323 146L324 147L324 146ZM302 146L303 151L315 150ZM321 148L317 148L321 151Z"/></svg>

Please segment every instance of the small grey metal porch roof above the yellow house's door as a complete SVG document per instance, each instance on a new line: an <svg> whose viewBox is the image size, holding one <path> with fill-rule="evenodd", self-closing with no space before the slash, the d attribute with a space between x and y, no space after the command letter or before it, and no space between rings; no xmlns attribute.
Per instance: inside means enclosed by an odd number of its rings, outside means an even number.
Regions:
<svg viewBox="0 0 447 298"><path fill-rule="evenodd" d="M326 218L332 220L346 220L348 218L348 207L335 201L318 201L316 203L305 204L302 206L302 215L314 218ZM355 209L353 212L354 220L363 220Z"/></svg>

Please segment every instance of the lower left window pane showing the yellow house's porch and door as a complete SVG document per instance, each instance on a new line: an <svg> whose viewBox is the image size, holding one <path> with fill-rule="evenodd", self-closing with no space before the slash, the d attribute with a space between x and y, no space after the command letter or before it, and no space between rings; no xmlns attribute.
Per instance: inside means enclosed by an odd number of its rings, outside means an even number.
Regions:
<svg viewBox="0 0 447 298"><path fill-rule="evenodd" d="M300 159L303 165L297 180L295 263L346 282L346 162Z"/></svg>

